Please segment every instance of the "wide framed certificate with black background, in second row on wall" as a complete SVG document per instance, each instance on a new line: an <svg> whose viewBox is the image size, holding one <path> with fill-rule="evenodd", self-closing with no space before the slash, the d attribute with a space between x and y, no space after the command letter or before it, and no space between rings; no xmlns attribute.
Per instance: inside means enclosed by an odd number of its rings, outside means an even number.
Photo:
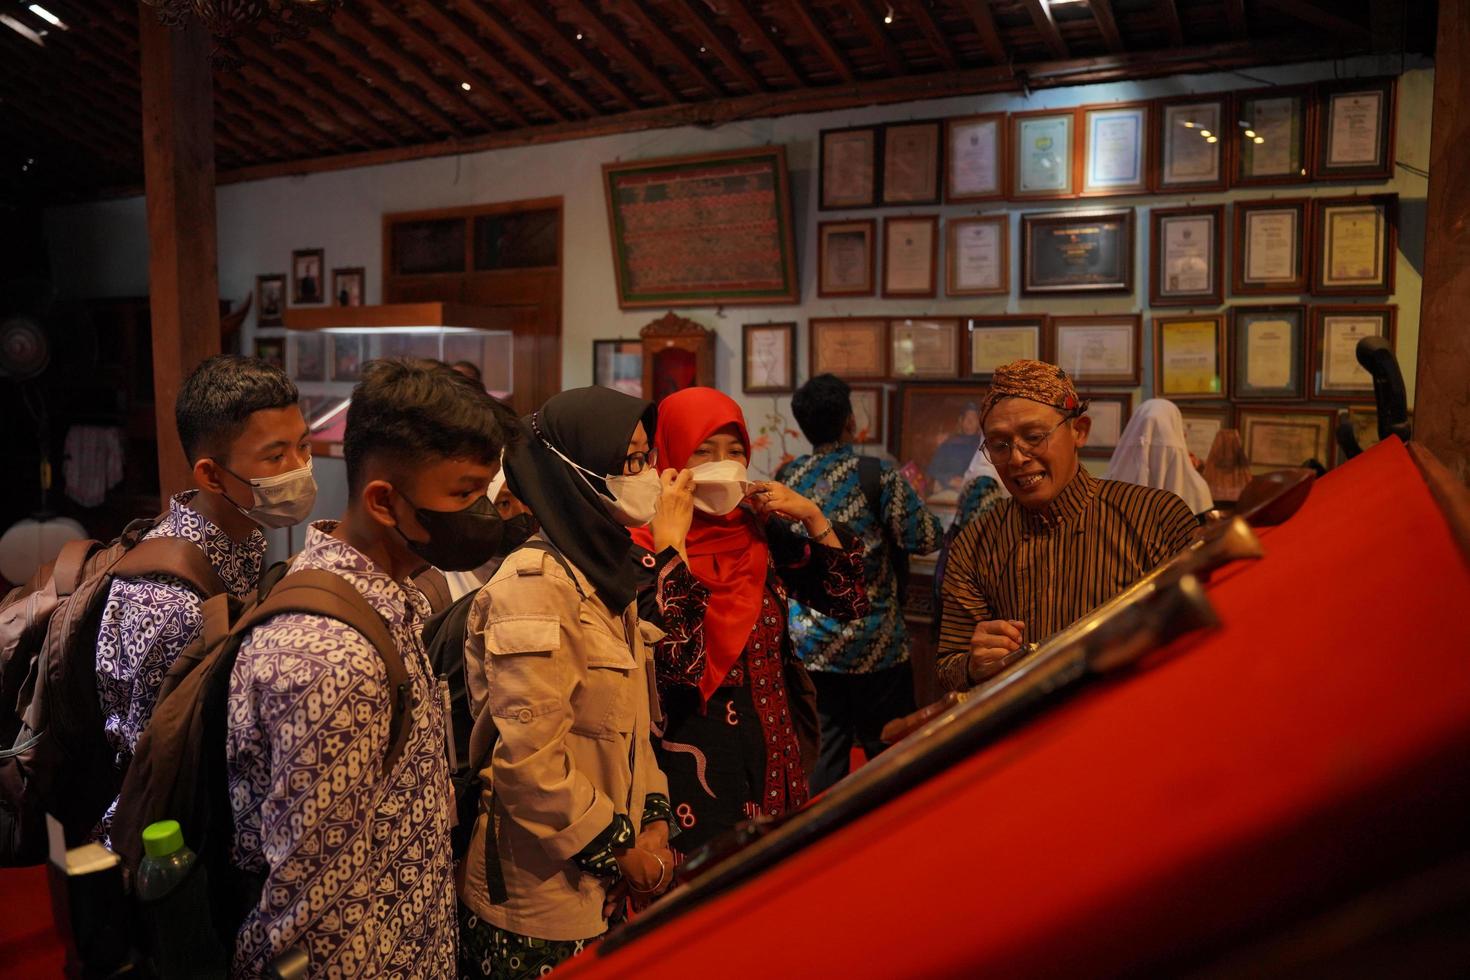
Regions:
<svg viewBox="0 0 1470 980"><path fill-rule="evenodd" d="M1133 209L1020 216L1022 294L1132 292Z"/></svg>

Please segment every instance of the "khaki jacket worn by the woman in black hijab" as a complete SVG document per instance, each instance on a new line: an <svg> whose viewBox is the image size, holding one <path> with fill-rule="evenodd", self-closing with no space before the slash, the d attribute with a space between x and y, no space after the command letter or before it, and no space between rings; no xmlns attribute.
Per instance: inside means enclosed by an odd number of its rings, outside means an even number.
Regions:
<svg viewBox="0 0 1470 980"><path fill-rule="evenodd" d="M554 555L512 552L475 597L465 644L472 707L476 717L488 708L500 738L481 773L460 899L494 926L553 940L607 930L607 880L572 857L614 813L637 830L644 798L669 793L648 736L659 717L653 642L662 632L638 620L637 604L613 613L579 572L576 579L587 598ZM491 902L485 877L491 815L503 904Z"/></svg>

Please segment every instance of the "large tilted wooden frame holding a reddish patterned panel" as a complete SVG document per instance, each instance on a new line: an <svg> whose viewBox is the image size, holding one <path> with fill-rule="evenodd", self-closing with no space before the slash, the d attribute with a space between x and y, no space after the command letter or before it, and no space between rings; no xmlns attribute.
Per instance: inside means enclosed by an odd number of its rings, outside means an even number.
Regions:
<svg viewBox="0 0 1470 980"><path fill-rule="evenodd" d="M603 191L619 309L800 303L785 147L604 163Z"/></svg>

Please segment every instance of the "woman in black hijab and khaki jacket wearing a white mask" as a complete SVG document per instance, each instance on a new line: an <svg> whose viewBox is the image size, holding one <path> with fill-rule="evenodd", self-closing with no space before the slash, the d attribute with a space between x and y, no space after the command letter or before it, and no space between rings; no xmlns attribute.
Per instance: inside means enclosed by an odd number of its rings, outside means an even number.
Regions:
<svg viewBox="0 0 1470 980"><path fill-rule="evenodd" d="M460 976L538 976L607 929L631 892L669 887L667 785L648 742L650 639L628 529L660 483L654 407L562 392L523 420L510 491L541 522L479 591L466 679L498 732L459 868ZM487 714L488 713L488 714Z"/></svg>

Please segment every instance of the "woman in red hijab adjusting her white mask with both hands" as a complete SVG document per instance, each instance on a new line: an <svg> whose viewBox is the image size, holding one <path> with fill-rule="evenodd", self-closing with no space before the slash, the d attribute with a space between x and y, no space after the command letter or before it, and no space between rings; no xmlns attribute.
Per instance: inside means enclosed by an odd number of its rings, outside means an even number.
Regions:
<svg viewBox="0 0 1470 980"><path fill-rule="evenodd" d="M866 616L863 544L795 491L750 482L750 433L728 395L685 388L659 406L663 498L635 541L659 569L641 605L654 648L654 751L685 854L741 820L807 801L816 696L786 629L788 597L833 619Z"/></svg>

